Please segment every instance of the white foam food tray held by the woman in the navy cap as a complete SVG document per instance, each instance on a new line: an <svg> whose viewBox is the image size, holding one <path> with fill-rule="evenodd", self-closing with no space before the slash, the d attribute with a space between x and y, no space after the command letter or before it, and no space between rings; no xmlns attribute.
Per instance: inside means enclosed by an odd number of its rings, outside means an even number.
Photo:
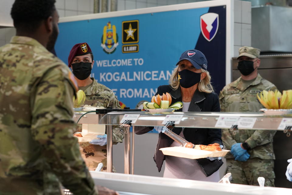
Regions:
<svg viewBox="0 0 292 195"><path fill-rule="evenodd" d="M190 159L198 159L198 158L206 158L206 157L223 157L230 151L230 150L222 149L222 151L212 152L212 151L207 151L207 150L198 150L198 149L181 147L181 146L165 147L165 148L160 148L159 150L161 150L164 155L190 158Z"/></svg>

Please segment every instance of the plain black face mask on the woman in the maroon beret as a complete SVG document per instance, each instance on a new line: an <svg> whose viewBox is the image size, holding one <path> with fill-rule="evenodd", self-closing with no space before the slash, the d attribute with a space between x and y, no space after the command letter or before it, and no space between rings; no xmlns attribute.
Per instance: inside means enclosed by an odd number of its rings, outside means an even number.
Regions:
<svg viewBox="0 0 292 195"><path fill-rule="evenodd" d="M73 74L79 80L85 80L91 73L91 62L78 62L72 64Z"/></svg>

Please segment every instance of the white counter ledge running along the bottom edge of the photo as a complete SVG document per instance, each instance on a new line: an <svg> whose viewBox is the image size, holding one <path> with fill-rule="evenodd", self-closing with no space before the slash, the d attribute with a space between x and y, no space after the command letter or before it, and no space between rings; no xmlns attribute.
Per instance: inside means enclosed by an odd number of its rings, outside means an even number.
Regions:
<svg viewBox="0 0 292 195"><path fill-rule="evenodd" d="M121 192L121 194L129 195L141 195L141 193L143 195L283 195L292 193L292 189L288 188L225 184L108 172L91 171L90 173L96 185L106 186Z"/></svg>

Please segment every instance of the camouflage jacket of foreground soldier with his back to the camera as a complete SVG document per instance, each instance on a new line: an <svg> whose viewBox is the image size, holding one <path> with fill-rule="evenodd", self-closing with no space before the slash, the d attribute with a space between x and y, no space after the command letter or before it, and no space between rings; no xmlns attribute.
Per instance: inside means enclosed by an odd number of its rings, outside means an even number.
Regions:
<svg viewBox="0 0 292 195"><path fill-rule="evenodd" d="M97 194L82 160L71 71L38 41L0 47L0 194Z"/></svg>

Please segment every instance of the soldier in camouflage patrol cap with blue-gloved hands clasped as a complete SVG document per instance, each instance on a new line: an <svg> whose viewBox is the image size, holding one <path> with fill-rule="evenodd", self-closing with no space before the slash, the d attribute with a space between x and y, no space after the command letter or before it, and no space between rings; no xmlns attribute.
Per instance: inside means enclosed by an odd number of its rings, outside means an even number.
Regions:
<svg viewBox="0 0 292 195"><path fill-rule="evenodd" d="M257 48L239 48L238 69L241 77L221 90L221 112L259 112L263 106L256 94L262 90L276 90L273 83L257 73L259 54ZM225 158L226 172L231 172L232 183L259 185L257 178L261 176L266 179L265 186L274 186L275 133L270 130L222 129L224 146L231 150Z"/></svg>

